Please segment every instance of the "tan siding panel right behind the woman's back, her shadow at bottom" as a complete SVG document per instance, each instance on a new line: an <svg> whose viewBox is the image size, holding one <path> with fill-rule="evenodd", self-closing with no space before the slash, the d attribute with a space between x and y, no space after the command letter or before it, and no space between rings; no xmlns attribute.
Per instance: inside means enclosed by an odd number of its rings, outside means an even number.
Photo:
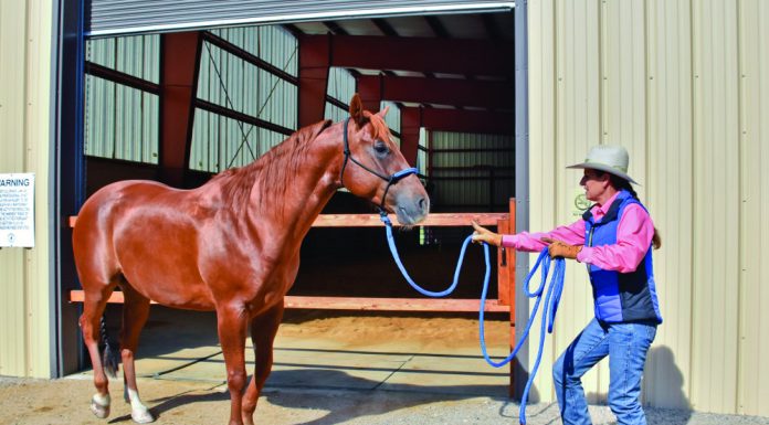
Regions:
<svg viewBox="0 0 769 425"><path fill-rule="evenodd" d="M654 273L664 323L649 353L644 402L685 408L692 384L694 238L689 2L650 2L646 33L649 147L642 198L662 236Z"/></svg>

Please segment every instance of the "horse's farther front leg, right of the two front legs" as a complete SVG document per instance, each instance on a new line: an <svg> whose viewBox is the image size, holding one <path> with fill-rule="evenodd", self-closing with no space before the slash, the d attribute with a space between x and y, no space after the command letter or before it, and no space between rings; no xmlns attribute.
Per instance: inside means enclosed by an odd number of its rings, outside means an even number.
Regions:
<svg viewBox="0 0 769 425"><path fill-rule="evenodd" d="M272 370L273 342L281 320L283 320L283 300L267 312L251 320L251 341L254 344L256 365L243 397L243 423L246 425L254 423L256 402Z"/></svg>

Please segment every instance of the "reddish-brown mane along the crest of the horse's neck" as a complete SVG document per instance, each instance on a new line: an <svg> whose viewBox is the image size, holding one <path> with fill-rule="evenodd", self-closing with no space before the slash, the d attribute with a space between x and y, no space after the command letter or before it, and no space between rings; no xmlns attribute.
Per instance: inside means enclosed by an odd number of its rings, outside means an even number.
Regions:
<svg viewBox="0 0 769 425"><path fill-rule="evenodd" d="M222 171L210 182L221 184L222 202L232 211L246 211L252 190L260 192L260 209L265 202L278 202L285 198L291 178L307 163L310 142L331 124L324 120L299 128L250 164Z"/></svg>

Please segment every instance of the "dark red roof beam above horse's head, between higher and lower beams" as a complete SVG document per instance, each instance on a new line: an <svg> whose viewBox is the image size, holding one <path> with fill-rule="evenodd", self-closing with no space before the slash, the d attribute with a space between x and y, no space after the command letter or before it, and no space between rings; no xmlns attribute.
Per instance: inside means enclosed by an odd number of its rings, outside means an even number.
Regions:
<svg viewBox="0 0 769 425"><path fill-rule="evenodd" d="M366 98L365 94L376 97L377 106L379 100L392 100L487 109L513 110L515 107L515 86L512 82L361 75L358 77L358 89L361 99Z"/></svg>

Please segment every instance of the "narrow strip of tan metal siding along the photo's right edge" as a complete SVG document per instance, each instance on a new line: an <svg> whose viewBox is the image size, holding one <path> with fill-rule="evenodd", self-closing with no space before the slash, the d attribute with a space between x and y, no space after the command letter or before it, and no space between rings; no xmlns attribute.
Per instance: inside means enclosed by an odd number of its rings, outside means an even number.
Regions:
<svg viewBox="0 0 769 425"><path fill-rule="evenodd" d="M744 0L739 20L739 357L737 412L769 415L769 3ZM763 308L761 308L763 307Z"/></svg>

